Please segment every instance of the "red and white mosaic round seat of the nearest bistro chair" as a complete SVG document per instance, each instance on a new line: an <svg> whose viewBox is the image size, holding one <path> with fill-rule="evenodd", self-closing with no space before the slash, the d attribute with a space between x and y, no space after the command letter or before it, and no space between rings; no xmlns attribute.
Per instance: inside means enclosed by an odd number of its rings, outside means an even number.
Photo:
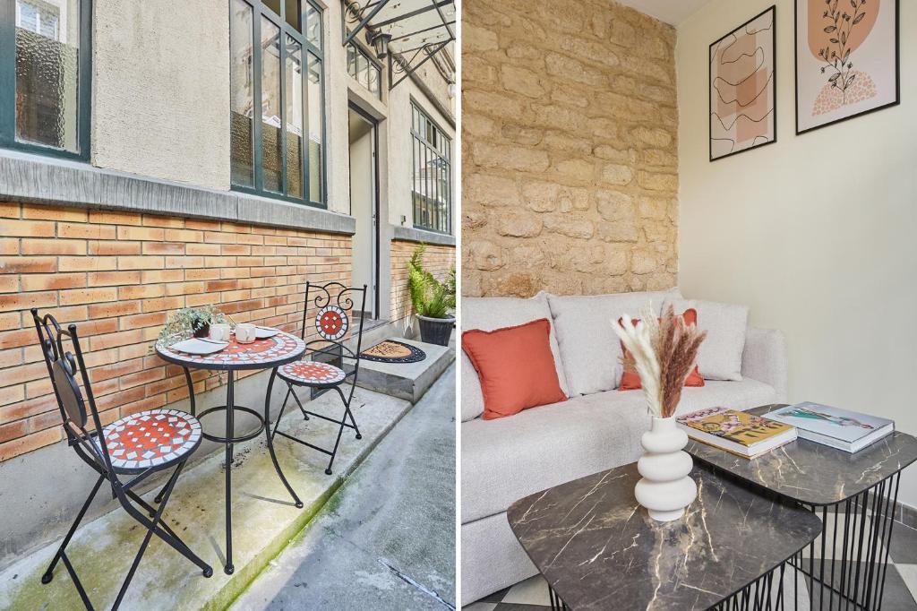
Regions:
<svg viewBox="0 0 917 611"><path fill-rule="evenodd" d="M201 423L177 409L149 409L131 414L102 432L112 467L116 469L149 469L171 464L201 441Z"/></svg>

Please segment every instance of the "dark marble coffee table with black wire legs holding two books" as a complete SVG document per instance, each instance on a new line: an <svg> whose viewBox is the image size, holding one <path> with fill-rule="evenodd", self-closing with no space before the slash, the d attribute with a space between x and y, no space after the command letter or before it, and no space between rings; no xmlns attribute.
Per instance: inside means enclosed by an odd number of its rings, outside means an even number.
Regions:
<svg viewBox="0 0 917 611"><path fill-rule="evenodd" d="M784 406L748 412L760 416ZM895 431L855 454L797 439L753 460L693 440L685 450L714 472L822 518L823 536L790 561L808 583L812 608L881 608L900 473L917 460L917 439Z"/></svg>

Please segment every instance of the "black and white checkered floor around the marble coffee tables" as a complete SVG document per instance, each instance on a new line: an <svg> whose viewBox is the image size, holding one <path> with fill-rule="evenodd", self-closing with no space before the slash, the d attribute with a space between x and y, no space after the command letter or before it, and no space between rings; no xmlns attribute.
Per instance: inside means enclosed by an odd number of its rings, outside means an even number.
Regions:
<svg viewBox="0 0 917 611"><path fill-rule="evenodd" d="M889 549L889 571L885 580L882 608L889 611L917 611L917 530L896 522L892 532L894 536ZM830 556L830 553L825 555ZM824 603L827 606L827 599ZM541 575L462 607L463 611L539 611L546 608L550 608L547 582ZM803 608L802 605L800 608ZM818 608L817 596L815 608Z"/></svg>

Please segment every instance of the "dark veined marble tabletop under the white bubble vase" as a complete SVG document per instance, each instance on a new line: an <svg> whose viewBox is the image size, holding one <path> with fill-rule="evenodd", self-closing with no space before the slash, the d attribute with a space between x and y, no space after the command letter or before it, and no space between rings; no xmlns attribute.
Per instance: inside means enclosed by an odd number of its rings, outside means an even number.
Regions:
<svg viewBox="0 0 917 611"><path fill-rule="evenodd" d="M698 498L660 523L637 505L636 464L526 496L507 511L529 558L571 609L707 609L822 531L812 512L695 467Z"/></svg>

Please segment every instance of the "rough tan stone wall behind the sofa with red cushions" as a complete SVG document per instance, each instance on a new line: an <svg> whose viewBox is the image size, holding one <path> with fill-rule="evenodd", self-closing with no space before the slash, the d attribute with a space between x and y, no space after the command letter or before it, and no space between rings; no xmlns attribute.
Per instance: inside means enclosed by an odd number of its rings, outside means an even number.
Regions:
<svg viewBox="0 0 917 611"><path fill-rule="evenodd" d="M466 0L462 292L676 283L675 30L609 0Z"/></svg>

